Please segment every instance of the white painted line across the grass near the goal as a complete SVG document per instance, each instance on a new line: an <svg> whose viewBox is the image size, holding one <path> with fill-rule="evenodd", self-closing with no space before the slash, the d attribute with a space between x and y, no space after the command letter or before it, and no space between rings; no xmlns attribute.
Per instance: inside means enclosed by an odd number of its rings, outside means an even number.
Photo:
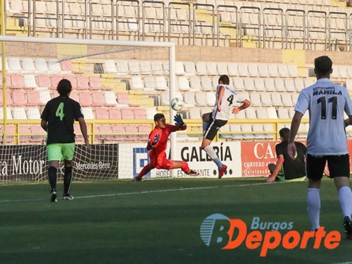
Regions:
<svg viewBox="0 0 352 264"><path fill-rule="evenodd" d="M285 182L275 182L274 184L285 183ZM143 184L138 183L136 184ZM249 184L234 184L234 185L223 185L223 186L204 186L204 187L192 187L192 188L176 188L176 189L164 189L164 190L151 190L151 191L142 191L142 192L129 192L129 193L115 193L115 194L105 194L105 195L89 195L89 196L78 196L75 199L88 199L88 198L99 198L99 197L111 197L111 196L123 196L123 195L138 195L138 194L152 194L152 193L165 193L165 192L179 192L179 191L195 191L195 190L205 190L205 189L216 189L216 188L232 188L232 187L245 187L245 186L256 186L256 185L265 185L273 183L268 182L259 182L259 183L249 183ZM47 199L16 199L16 200L0 200L0 203L5 202L22 202L22 201L44 201Z"/></svg>

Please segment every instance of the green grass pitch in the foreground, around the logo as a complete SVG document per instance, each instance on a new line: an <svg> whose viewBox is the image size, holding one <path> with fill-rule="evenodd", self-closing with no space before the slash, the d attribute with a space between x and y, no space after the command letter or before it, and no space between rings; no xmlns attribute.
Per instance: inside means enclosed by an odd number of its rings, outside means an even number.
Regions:
<svg viewBox="0 0 352 264"><path fill-rule="evenodd" d="M58 183L59 194L62 183ZM144 182L73 182L73 201L49 202L47 183L0 185L0 263L344 263L352 262L338 193L332 180L321 188L321 224L342 242L325 248L269 250L241 245L221 250L202 242L199 228L220 213L246 222L293 221L310 229L307 181L264 183L251 179L158 179ZM60 197L59 197L60 198ZM284 234L283 231L281 231Z"/></svg>

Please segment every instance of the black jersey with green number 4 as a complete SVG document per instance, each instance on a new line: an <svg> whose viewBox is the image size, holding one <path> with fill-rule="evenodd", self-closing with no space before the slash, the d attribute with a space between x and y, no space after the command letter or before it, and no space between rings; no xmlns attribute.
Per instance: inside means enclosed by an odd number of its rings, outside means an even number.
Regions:
<svg viewBox="0 0 352 264"><path fill-rule="evenodd" d="M75 142L73 123L80 117L80 104L69 97L59 96L47 102L41 116L48 122L46 144Z"/></svg>

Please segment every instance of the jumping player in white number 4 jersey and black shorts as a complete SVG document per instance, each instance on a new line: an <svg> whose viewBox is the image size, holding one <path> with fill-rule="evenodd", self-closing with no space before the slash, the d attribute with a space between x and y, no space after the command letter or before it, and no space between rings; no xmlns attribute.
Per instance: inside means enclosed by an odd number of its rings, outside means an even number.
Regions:
<svg viewBox="0 0 352 264"><path fill-rule="evenodd" d="M205 113L202 116L203 119L203 141L201 149L211 157L216 163L219 169L220 179L227 166L222 164L219 157L215 153L210 143L216 136L220 127L224 126L229 119L230 113L239 113L241 110L246 109L250 106L250 102L243 96L238 94L232 87L229 86L230 79L227 75L221 75L219 78L219 85L217 87L216 102L214 110L211 113ZM233 107L234 103L242 103L240 107Z"/></svg>

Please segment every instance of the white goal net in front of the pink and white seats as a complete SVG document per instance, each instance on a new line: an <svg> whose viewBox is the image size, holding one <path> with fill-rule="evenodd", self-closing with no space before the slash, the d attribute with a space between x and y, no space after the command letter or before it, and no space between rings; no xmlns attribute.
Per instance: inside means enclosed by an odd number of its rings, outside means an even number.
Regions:
<svg viewBox="0 0 352 264"><path fill-rule="evenodd" d="M6 76L6 88L0 84L0 182L47 179L40 114L58 96L63 78L81 104L92 144L87 150L75 124L75 180L132 178L148 162L154 114L175 114L169 107L175 96L174 44L9 36L0 41ZM175 141L172 136L171 145Z"/></svg>

